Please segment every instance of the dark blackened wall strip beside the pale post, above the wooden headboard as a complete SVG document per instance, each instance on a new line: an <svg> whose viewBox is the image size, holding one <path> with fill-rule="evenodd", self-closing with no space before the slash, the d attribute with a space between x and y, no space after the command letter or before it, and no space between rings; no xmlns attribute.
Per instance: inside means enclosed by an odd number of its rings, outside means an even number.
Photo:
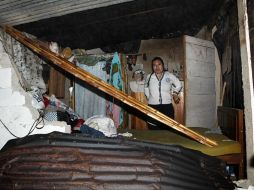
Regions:
<svg viewBox="0 0 254 190"><path fill-rule="evenodd" d="M243 109L241 53L236 3L229 2L217 19L213 41L218 50L222 83L226 83L223 106Z"/></svg>

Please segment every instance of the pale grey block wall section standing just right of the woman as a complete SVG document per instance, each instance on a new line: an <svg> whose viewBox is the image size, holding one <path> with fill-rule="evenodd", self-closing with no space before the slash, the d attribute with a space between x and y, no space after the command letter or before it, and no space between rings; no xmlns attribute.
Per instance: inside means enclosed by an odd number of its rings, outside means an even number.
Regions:
<svg viewBox="0 0 254 190"><path fill-rule="evenodd" d="M187 127L216 126L215 48L185 36L185 109Z"/></svg>

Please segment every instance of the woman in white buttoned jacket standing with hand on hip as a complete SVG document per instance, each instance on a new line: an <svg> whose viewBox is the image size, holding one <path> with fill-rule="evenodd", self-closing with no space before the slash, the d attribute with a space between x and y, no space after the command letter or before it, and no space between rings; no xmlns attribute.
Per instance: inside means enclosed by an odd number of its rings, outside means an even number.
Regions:
<svg viewBox="0 0 254 190"><path fill-rule="evenodd" d="M172 97L175 103L179 103L178 94L182 89L181 82L175 75L165 71L164 62L160 57L153 58L152 71L145 81L145 95L148 99L148 105L174 119ZM152 119L148 121L148 128L168 129L168 127Z"/></svg>

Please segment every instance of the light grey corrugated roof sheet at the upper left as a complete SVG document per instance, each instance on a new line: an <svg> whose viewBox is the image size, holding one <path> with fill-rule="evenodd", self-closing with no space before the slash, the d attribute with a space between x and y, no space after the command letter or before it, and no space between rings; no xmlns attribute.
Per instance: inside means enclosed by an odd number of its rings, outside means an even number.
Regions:
<svg viewBox="0 0 254 190"><path fill-rule="evenodd" d="M19 25L133 0L3 0L0 25Z"/></svg>

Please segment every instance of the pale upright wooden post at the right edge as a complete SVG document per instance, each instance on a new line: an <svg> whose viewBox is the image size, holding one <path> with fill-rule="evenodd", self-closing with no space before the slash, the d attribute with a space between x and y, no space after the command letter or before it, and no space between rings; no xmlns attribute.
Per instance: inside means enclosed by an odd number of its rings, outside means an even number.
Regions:
<svg viewBox="0 0 254 190"><path fill-rule="evenodd" d="M247 177L254 183L254 169L250 168L250 159L254 155L254 98L246 0L237 0L237 7L244 95Z"/></svg>

